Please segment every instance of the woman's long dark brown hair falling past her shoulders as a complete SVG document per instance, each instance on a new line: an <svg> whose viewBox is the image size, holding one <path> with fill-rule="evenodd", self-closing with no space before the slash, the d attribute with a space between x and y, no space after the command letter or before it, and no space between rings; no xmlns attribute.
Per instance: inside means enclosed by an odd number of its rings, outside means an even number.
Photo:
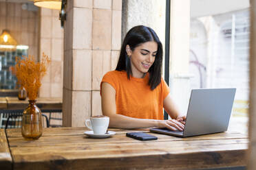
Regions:
<svg viewBox="0 0 256 170"><path fill-rule="evenodd" d="M156 32L150 27L138 25L133 27L127 32L122 47L120 50L120 56L116 71L126 71L127 78L130 79L131 61L126 52L126 46L129 45L131 51L134 51L136 47L142 43L154 41L158 44L158 51L156 52L156 59L152 66L149 68L149 86L151 90L155 89L161 82L162 74L162 43L160 42Z"/></svg>

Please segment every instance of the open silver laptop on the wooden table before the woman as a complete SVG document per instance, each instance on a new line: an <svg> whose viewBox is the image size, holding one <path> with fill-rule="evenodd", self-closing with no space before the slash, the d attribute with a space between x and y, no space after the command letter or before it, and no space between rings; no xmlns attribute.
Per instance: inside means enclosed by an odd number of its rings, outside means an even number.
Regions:
<svg viewBox="0 0 256 170"><path fill-rule="evenodd" d="M191 90L183 132L151 128L151 132L188 137L225 132L228 129L236 88Z"/></svg>

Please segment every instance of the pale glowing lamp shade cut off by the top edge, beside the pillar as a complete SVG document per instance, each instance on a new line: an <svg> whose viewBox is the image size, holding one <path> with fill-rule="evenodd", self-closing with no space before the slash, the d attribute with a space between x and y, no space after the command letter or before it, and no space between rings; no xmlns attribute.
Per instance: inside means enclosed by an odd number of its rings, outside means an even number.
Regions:
<svg viewBox="0 0 256 170"><path fill-rule="evenodd" d="M41 8L61 10L61 0L34 0L34 5Z"/></svg>

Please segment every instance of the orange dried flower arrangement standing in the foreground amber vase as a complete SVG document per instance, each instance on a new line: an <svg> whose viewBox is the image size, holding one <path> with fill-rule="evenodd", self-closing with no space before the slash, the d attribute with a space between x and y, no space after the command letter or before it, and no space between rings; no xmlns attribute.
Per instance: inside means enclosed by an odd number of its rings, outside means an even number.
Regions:
<svg viewBox="0 0 256 170"><path fill-rule="evenodd" d="M46 74L50 58L43 53L41 62L36 62L34 56L23 56L16 58L16 77L28 92L28 98L35 100L41 86L41 78Z"/></svg>

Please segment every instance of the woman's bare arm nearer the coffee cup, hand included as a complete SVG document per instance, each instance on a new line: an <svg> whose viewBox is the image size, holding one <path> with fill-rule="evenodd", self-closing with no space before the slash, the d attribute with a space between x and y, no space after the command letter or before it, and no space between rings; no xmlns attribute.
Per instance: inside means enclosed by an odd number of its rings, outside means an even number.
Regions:
<svg viewBox="0 0 256 170"><path fill-rule="evenodd" d="M116 114L116 90L107 82L101 85L101 106L103 114L109 117L109 127L142 128L142 127L167 127L171 130L183 130L184 125L175 120L162 121L154 119L137 119ZM175 127L175 128L173 128Z"/></svg>

